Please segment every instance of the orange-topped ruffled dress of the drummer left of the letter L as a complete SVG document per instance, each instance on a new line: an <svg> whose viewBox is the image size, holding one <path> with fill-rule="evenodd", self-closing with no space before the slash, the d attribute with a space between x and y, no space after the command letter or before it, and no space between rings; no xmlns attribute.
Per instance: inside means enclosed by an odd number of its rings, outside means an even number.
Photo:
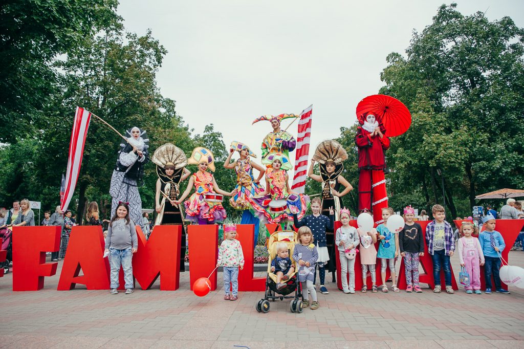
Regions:
<svg viewBox="0 0 524 349"><path fill-rule="evenodd" d="M195 192L189 200L184 201L185 219L194 223L198 220L208 220L210 223L222 222L226 218L226 211L220 202L210 202L204 200L206 193L214 193L213 174L198 171L192 176Z"/></svg>

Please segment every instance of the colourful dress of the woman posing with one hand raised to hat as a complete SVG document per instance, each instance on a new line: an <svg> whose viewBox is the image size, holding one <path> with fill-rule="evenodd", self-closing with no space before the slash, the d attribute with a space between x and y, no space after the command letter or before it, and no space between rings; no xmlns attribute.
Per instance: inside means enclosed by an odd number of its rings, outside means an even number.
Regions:
<svg viewBox="0 0 524 349"><path fill-rule="evenodd" d="M250 165L250 159L238 159L235 166L236 187L233 197L230 199L230 205L235 210L249 210L250 203L248 198L264 191L264 188L253 182L253 168Z"/></svg>

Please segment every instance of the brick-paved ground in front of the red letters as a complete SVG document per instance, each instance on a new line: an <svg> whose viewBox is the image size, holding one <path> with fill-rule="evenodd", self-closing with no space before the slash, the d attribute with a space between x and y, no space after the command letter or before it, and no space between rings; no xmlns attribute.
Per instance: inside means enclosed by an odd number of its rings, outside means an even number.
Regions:
<svg viewBox="0 0 524 349"><path fill-rule="evenodd" d="M510 252L510 260L524 266L524 253ZM460 270L458 258L452 265ZM13 292L12 275L0 278L0 347L524 347L524 290L514 287L511 295L436 295L427 288L345 295L329 283L319 310L293 314L289 301L276 301L261 314L261 292L224 301L222 275L205 298L189 290L188 272L177 291L160 291L157 281L150 290L114 296L81 285L56 291L60 267L38 292Z"/></svg>

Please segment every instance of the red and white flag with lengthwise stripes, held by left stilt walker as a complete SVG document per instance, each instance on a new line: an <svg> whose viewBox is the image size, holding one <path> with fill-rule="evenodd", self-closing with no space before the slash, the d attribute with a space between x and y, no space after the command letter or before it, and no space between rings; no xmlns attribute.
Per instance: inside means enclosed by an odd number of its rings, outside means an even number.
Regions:
<svg viewBox="0 0 524 349"><path fill-rule="evenodd" d="M84 155L85 138L88 136L89 121L91 113L84 108L77 107L74 115L73 130L71 132L71 142L69 143L69 161L67 172L65 172L65 190L60 202L60 209L67 210L69 202L73 197L74 188L77 186L82 157Z"/></svg>

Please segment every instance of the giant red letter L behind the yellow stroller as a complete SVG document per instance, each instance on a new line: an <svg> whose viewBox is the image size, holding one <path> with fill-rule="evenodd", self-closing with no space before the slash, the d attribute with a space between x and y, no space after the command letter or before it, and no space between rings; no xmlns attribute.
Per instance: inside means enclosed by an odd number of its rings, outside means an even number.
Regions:
<svg viewBox="0 0 524 349"><path fill-rule="evenodd" d="M254 249L255 249L255 226L253 224L237 224L236 238L242 245L244 253L244 269L238 272L239 291L264 291L266 289L266 278L254 278Z"/></svg>

